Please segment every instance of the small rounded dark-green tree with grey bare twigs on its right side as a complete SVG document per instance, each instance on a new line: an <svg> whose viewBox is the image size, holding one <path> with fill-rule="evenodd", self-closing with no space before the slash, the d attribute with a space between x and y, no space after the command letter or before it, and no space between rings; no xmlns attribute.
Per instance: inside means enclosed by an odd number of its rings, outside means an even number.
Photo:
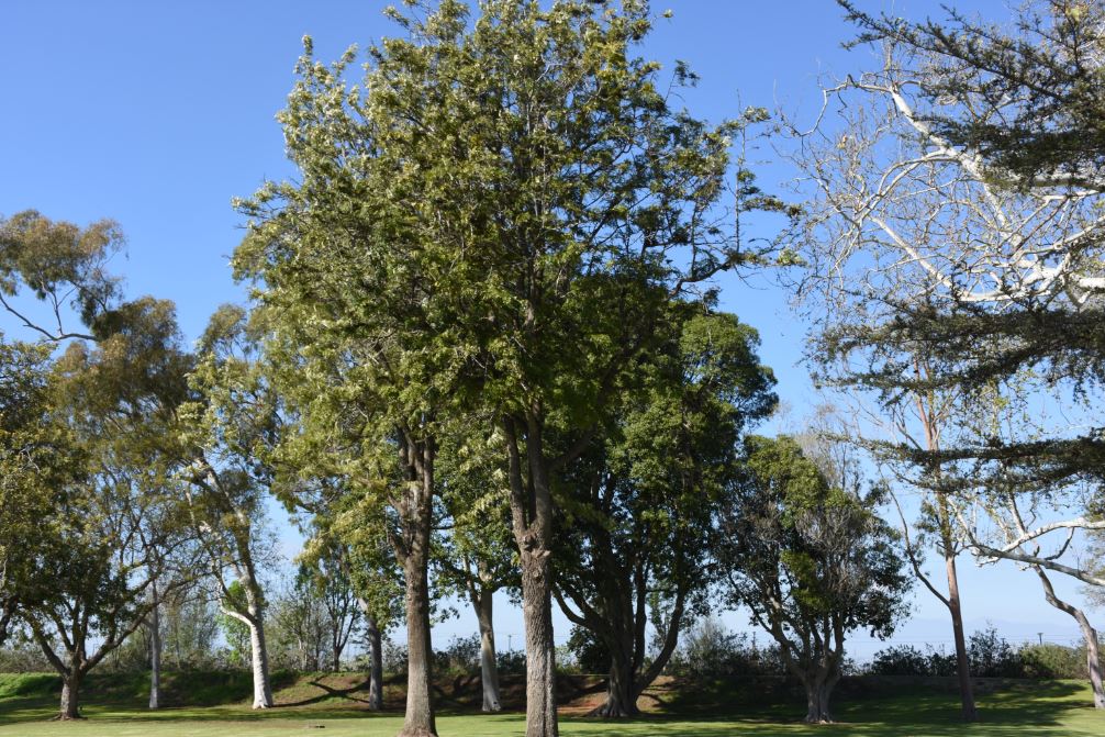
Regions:
<svg viewBox="0 0 1105 737"><path fill-rule="evenodd" d="M854 467L825 473L786 435L749 438L745 452L723 517L728 597L779 644L806 687L806 720L831 722L848 633L886 638L905 613L904 561L875 513L882 493L862 494Z"/></svg>

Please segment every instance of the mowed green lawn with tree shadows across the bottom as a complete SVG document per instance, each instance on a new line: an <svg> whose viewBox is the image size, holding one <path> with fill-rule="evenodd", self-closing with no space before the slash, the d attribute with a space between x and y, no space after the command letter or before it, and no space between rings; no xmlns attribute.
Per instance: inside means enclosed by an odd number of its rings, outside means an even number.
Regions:
<svg viewBox="0 0 1105 737"><path fill-rule="evenodd" d="M27 676L23 676L24 678ZM33 677L33 676L32 676ZM169 707L151 713L140 707L140 680L124 682L114 692L90 694L85 720L50 722L56 709L46 681L20 682L15 687L0 676L0 735L27 737L391 737L402 726L400 709L373 714L364 709L356 694L326 688L312 696L302 681L282 689L285 703L253 712L244 703ZM52 685L52 684L51 684ZM654 710L640 719L602 720L576 715L561 718L561 734L610 737L722 737L723 735L856 735L922 737L965 735L1023 737L1105 735L1105 715L1090 706L1088 687L1075 682L1008 683L983 689L979 698L981 722L965 725L958 703L946 686L908 682L855 682L836 702L838 724L806 725L799 719L802 704L793 693L754 691L754 684L716 684L685 693L657 692ZM97 701L94 696L99 695ZM306 698L304 698L306 696ZM785 697L783 697L785 696ZM720 701L719 701L720 699ZM520 736L524 716L518 713L483 715L445 712L438 718L442 737Z"/></svg>

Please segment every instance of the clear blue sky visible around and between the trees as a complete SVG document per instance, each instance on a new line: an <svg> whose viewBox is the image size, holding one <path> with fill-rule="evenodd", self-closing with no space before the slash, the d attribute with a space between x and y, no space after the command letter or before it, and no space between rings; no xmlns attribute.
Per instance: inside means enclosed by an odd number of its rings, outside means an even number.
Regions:
<svg viewBox="0 0 1105 737"><path fill-rule="evenodd" d="M87 223L117 220L127 255L113 264L131 296L178 305L191 339L223 302L241 302L227 259L242 218L232 197L294 172L274 119L293 84L304 34L332 60L397 29L381 0L4 0L0 3L0 213L34 208L50 218ZM953 3L1000 20L1000 0ZM943 17L936 2L865 0L871 10ZM643 53L671 69L688 62L701 77L685 95L697 116L719 119L747 105L809 114L820 103L819 75L843 76L875 63L873 52L845 52L854 31L832 0L667 0ZM775 188L794 172L755 156L761 181ZM727 309L760 330L761 357L775 368L779 393L797 415L818 402L800 365L806 328L772 280L726 277ZM9 323L0 316L0 327ZM286 547L295 536L282 525ZM962 561L968 630L992 621L1010 639L1076 636L1072 620L1051 609L1031 573L1002 565L978 570ZM1074 592L1063 586L1061 593ZM950 642L946 612L917 593L916 615L895 640ZM518 643L520 617L499 606L498 629ZM734 628L745 618L728 614ZM1103 615L1096 612L1101 622ZM1103 622L1105 623L1105 622ZM475 631L466 610L441 625L439 640ZM568 628L561 625L560 635ZM857 635L857 656L874 645Z"/></svg>

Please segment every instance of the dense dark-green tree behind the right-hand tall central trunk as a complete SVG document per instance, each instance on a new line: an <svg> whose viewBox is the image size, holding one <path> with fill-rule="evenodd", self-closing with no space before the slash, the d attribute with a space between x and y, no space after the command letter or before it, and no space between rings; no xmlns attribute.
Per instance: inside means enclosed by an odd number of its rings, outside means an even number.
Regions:
<svg viewBox="0 0 1105 737"><path fill-rule="evenodd" d="M603 432L565 481L556 597L610 653L596 714L638 714L675 651L684 617L707 606L715 526L746 427L775 407L758 336L703 305L675 310L667 341L638 367ZM682 314L681 314L682 313ZM651 615L650 615L651 610ZM661 638L648 650L649 624Z"/></svg>

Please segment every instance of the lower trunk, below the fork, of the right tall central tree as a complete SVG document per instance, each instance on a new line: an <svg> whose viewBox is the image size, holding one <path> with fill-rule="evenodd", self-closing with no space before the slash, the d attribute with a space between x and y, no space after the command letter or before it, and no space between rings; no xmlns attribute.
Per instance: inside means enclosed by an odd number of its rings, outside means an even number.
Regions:
<svg viewBox="0 0 1105 737"><path fill-rule="evenodd" d="M522 551L522 612L526 627L526 737L558 737L556 646L549 550Z"/></svg>

